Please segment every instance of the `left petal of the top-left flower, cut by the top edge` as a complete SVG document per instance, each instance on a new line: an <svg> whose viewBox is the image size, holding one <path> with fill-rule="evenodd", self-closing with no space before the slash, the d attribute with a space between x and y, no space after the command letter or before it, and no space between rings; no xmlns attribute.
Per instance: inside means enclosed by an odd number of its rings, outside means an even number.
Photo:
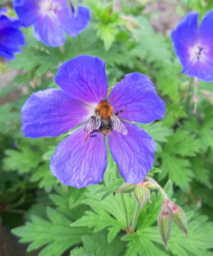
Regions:
<svg viewBox="0 0 213 256"><path fill-rule="evenodd" d="M40 17L40 6L37 0L14 0L13 7L24 27L31 26Z"/></svg>

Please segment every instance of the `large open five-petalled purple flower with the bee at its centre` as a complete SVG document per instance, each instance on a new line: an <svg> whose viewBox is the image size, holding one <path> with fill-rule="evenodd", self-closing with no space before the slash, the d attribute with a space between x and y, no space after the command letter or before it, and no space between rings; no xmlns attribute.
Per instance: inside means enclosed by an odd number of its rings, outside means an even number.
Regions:
<svg viewBox="0 0 213 256"><path fill-rule="evenodd" d="M101 182L107 165L104 135L124 180L143 180L154 163L155 141L128 121L149 123L165 115L149 78L130 73L107 98L105 63L81 55L63 63L55 81L62 90L38 91L27 99L22 132L31 138L58 136L80 126L51 157L50 169L58 180L77 188Z"/></svg>

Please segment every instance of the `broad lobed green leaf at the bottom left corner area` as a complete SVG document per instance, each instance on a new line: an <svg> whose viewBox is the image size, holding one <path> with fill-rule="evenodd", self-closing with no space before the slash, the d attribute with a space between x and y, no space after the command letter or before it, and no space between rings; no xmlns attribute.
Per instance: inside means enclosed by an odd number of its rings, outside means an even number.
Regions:
<svg viewBox="0 0 213 256"><path fill-rule="evenodd" d="M83 234L90 234L86 228L70 227L71 221L50 207L47 216L49 220L32 216L31 222L12 230L21 238L20 242L30 243L27 251L42 247L38 256L62 255L71 246L79 244Z"/></svg>

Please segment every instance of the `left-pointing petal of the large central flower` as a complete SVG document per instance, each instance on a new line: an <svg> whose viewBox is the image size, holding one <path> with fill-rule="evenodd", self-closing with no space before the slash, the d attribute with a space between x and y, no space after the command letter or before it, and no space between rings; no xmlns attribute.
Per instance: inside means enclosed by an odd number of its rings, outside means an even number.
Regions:
<svg viewBox="0 0 213 256"><path fill-rule="evenodd" d="M90 116L86 105L72 102L61 90L38 91L22 107L22 132L31 138L58 136Z"/></svg>

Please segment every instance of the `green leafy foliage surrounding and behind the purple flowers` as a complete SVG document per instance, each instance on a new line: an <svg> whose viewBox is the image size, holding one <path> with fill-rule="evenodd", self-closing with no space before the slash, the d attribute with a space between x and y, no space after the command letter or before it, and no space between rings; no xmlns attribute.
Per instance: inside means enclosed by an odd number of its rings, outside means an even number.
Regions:
<svg viewBox="0 0 213 256"><path fill-rule="evenodd" d="M22 88L17 100L0 105L0 215L20 243L28 243L26 256L34 252L39 256L213 255L213 102L202 93L212 93L213 83L195 81L186 94L190 79L180 73L170 31L154 30L147 2L123 0L121 13L113 8L113 1L84 0L92 21L80 36L67 36L62 47L51 48L36 41L31 28L23 29L27 46L15 61L0 64L0 72L20 71L7 87L0 88L1 99ZM211 0L172 2L180 16L192 9L203 17L213 8ZM145 73L166 103L166 117L142 127L157 144L155 166L162 172L154 177L176 198L188 220L189 239L174 227L168 252L158 233L162 199L155 192L152 204L140 212L137 231L125 233L121 195L113 193L122 181L116 178L110 154L102 184L70 188L59 184L49 170L49 159L63 135L44 139L22 135L23 103L32 92L57 87L53 76L58 67L80 54L106 61L109 86L126 73ZM192 113L195 88L197 114ZM124 194L124 200L132 220L133 195Z"/></svg>

